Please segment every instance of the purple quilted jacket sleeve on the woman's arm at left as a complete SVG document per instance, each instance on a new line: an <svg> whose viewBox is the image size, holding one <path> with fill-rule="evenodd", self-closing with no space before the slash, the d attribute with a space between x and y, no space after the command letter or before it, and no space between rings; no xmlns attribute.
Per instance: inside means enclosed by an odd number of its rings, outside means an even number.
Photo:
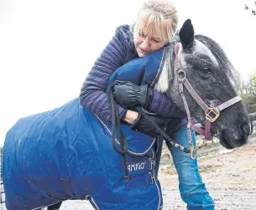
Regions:
<svg viewBox="0 0 256 210"><path fill-rule="evenodd" d="M81 88L80 104L91 110L102 120L111 121L111 110L107 102L107 82L112 73L122 66L126 60L127 35L123 28L118 27L112 40L107 44L100 57L96 60ZM118 106L120 119L127 110Z"/></svg>

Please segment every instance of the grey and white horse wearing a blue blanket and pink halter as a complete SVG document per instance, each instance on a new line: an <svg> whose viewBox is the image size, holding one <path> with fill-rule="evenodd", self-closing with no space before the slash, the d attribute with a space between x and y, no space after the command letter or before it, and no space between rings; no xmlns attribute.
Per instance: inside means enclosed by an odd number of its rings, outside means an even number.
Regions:
<svg viewBox="0 0 256 210"><path fill-rule="evenodd" d="M227 149L247 143L251 127L238 96L238 73L212 38L195 35L188 19L170 45L149 56L130 61L135 63L129 67L145 63L142 74L146 78L151 74L150 62L159 64L156 76L145 82L168 95L186 113L188 136L191 130L206 139L217 135ZM135 70L129 69L131 79ZM128 76L122 78L117 69L112 81L129 80ZM203 128L196 127L191 116ZM123 148L121 136L112 136L112 124L82 108L78 99L18 120L3 146L8 209L58 209L60 202L68 199L88 199L102 210L162 209L157 178L161 141L123 124L122 128L127 140L122 153L125 161L112 148ZM190 151L194 151L192 146Z"/></svg>

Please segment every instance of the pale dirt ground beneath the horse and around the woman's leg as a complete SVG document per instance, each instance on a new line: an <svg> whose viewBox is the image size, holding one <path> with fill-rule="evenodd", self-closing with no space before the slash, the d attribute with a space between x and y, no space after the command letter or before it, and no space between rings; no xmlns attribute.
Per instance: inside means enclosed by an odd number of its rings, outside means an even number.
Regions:
<svg viewBox="0 0 256 210"><path fill-rule="evenodd" d="M222 148L219 146L218 148ZM206 183L217 210L256 209L256 138L247 146L232 151L221 149L214 156L198 160L201 177ZM164 210L184 210L174 166L161 166L159 180ZM92 210L86 201L64 202L61 210Z"/></svg>

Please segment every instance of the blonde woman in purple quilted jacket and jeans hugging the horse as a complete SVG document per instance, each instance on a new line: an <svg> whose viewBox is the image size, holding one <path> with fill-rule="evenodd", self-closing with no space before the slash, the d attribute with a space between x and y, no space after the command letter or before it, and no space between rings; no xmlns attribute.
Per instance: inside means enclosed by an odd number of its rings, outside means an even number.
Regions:
<svg viewBox="0 0 256 210"><path fill-rule="evenodd" d="M107 103L106 90L112 73L131 59L145 57L163 48L175 33L177 22L177 12L170 0L148 0L144 3L136 23L131 27L118 27L114 37L92 67L81 88L81 105L102 120L110 122L111 110ZM138 112L129 110L128 107L141 105L149 112L164 117L184 116L165 94L152 90L147 85L138 86L124 82L114 87L114 95L119 104L120 119L142 132L144 128L139 126L141 119ZM157 118L154 121L160 124ZM155 135L152 130L148 134ZM176 132L172 137L180 145L188 146L185 129ZM196 144L195 135L194 143ZM214 209L212 197L201 181L197 161L176 148L170 148L170 152L179 175L180 195L187 203L187 209Z"/></svg>

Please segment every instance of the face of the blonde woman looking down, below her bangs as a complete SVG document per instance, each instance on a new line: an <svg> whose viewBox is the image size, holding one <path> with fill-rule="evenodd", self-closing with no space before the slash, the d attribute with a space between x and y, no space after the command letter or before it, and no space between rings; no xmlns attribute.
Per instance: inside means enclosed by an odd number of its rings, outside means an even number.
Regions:
<svg viewBox="0 0 256 210"><path fill-rule="evenodd" d="M134 44L138 57L145 57L165 46L168 40L161 40L158 37L150 37L143 30L134 32Z"/></svg>

